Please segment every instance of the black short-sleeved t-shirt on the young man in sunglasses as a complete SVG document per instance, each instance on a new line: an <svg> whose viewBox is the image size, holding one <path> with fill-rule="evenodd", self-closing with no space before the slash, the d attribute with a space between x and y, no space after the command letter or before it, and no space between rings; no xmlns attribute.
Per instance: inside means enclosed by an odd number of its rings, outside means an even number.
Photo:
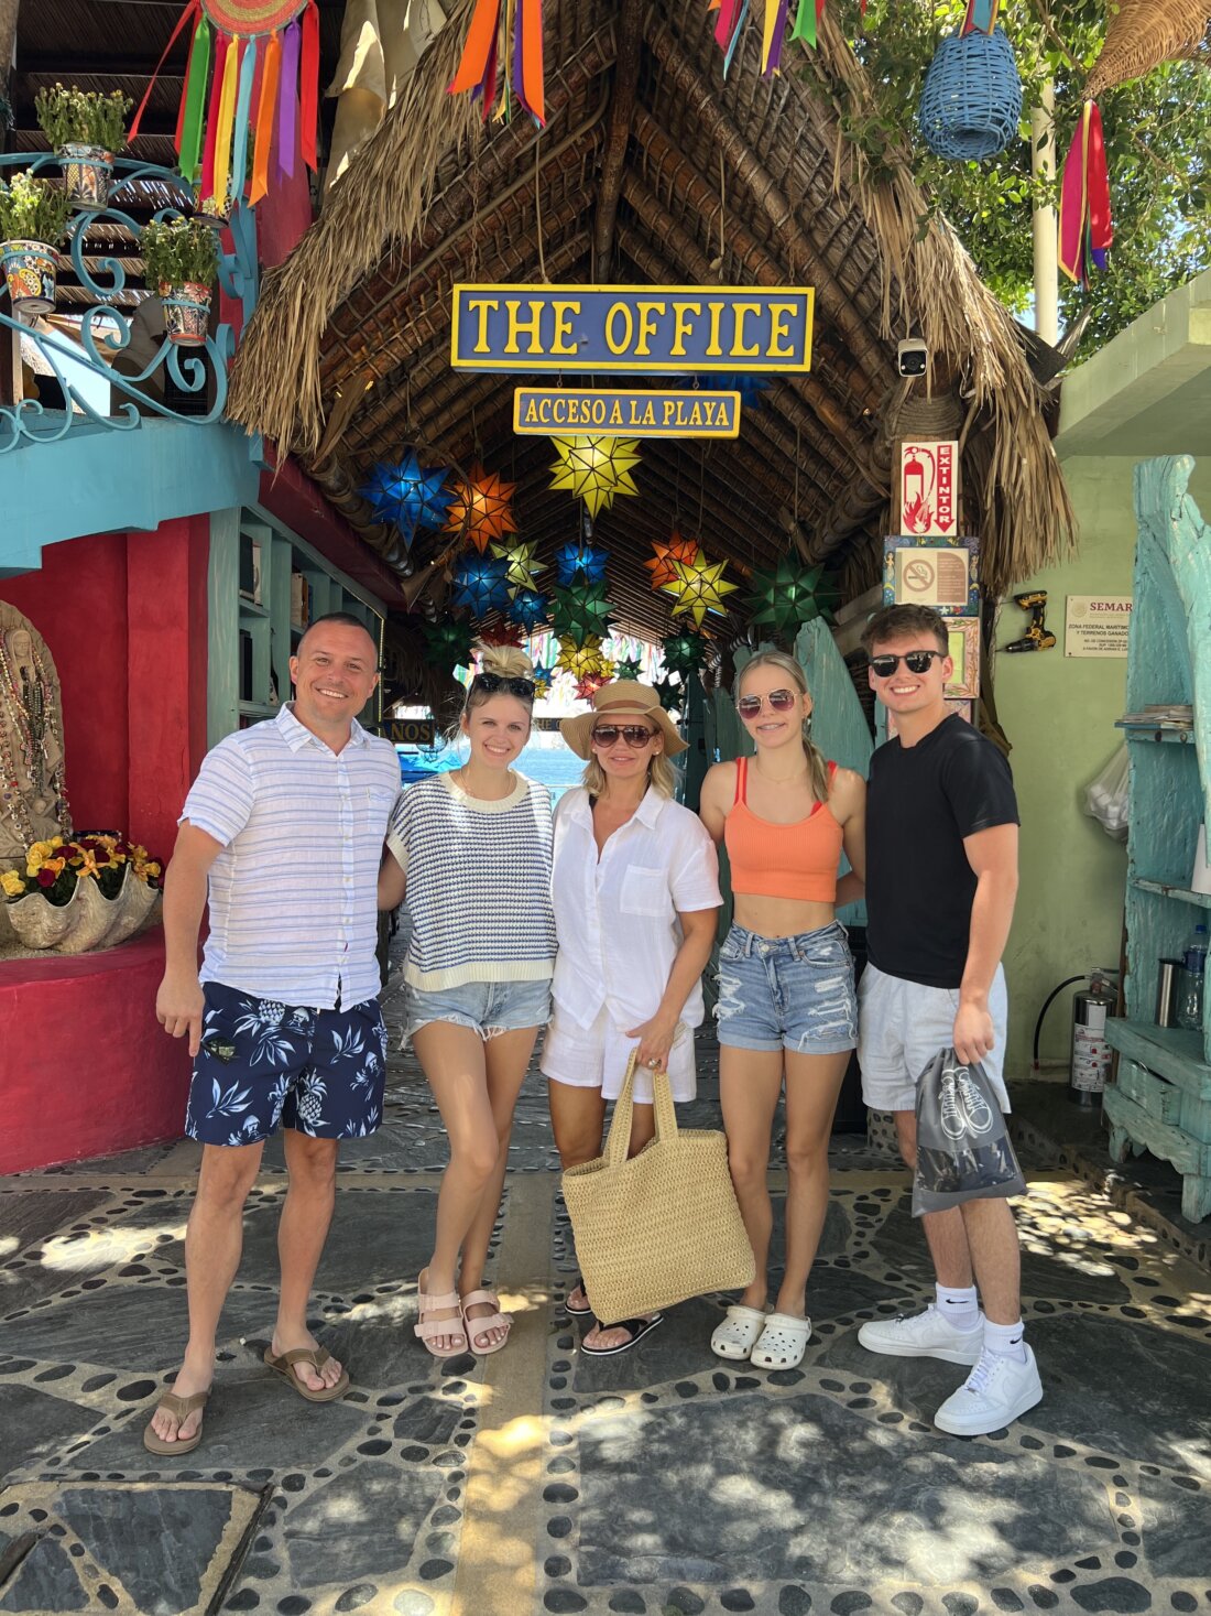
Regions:
<svg viewBox="0 0 1211 1616"><path fill-rule="evenodd" d="M888 976L959 987L975 873L962 840L1017 824L1009 764L951 713L916 747L870 760L865 824L867 955Z"/></svg>

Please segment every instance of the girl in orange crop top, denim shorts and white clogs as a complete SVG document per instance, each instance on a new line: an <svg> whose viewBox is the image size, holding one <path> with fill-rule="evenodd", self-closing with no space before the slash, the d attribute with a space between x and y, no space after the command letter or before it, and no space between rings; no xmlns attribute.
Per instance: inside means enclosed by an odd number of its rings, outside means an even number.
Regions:
<svg viewBox="0 0 1211 1616"><path fill-rule="evenodd" d="M862 895L865 781L807 734L799 664L762 651L736 680L756 756L717 763L701 814L727 847L735 918L719 952L719 1092L754 1280L710 1336L719 1357L793 1369L811 1338L807 1277L828 1207L828 1134L857 1044L854 965L835 907ZM841 853L849 873L838 881ZM765 1170L786 1086L786 1267L767 1302Z"/></svg>

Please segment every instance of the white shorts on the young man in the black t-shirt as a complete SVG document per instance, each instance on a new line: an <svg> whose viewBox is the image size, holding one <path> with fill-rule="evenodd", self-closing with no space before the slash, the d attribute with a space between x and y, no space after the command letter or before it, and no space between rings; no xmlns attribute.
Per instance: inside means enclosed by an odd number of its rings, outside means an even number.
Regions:
<svg viewBox="0 0 1211 1616"><path fill-rule="evenodd" d="M996 1042L982 1065L1001 1110L1008 1112L1003 1073L1009 995L999 965L988 991L988 1010ZM857 984L857 1063L862 1068L862 1099L870 1110L916 1110L917 1079L938 1050L951 1042L957 1012L957 987L924 987L867 965Z"/></svg>

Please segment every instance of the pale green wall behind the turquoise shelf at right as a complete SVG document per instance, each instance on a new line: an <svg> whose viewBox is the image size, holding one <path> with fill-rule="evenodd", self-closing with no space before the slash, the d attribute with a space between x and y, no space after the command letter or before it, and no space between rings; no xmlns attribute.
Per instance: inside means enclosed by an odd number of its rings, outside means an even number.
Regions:
<svg viewBox="0 0 1211 1616"><path fill-rule="evenodd" d="M1064 462L1080 522L1079 554L1017 585L1048 591L1048 627L1059 643L1053 651L996 656L996 705L1014 748L1009 763L1022 810L1020 887L1004 955L1012 1076L1030 1070L1035 1018L1048 992L1077 971L1119 963L1127 850L1083 813L1083 798L1119 745L1114 721L1125 708L1127 659L1064 656L1064 598L1130 595L1133 465L1129 456ZM1190 491L1211 509L1211 461L1196 467ZM1019 608L1006 604L998 643L1017 638L1024 622ZM1048 1012L1043 1060L1067 1060L1075 986Z"/></svg>

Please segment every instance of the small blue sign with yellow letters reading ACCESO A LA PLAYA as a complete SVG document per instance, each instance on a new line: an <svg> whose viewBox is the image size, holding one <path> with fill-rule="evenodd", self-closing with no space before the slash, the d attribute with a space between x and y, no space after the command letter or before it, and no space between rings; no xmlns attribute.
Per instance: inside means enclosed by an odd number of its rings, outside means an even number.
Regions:
<svg viewBox="0 0 1211 1616"><path fill-rule="evenodd" d="M740 393L518 388L513 393L513 431L539 438L576 433L617 438L736 438Z"/></svg>

